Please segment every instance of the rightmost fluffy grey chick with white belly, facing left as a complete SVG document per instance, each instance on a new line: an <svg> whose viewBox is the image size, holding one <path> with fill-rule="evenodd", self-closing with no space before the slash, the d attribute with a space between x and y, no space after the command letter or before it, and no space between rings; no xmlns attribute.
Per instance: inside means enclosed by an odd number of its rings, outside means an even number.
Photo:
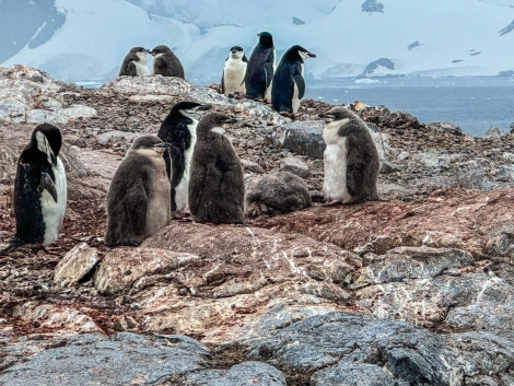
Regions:
<svg viewBox="0 0 514 386"><path fill-rule="evenodd" d="M350 109L334 107L319 115L325 120L323 139L327 204L378 199L376 180L379 160L366 124Z"/></svg>

